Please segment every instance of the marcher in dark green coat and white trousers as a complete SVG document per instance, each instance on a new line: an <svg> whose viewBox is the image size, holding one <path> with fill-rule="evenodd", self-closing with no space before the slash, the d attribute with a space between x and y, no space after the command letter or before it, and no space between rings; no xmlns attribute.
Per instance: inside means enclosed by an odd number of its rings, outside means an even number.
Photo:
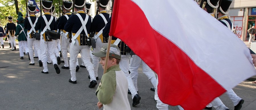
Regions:
<svg viewBox="0 0 256 110"><path fill-rule="evenodd" d="M27 44L27 30L24 29L24 18L22 16L19 16L17 19L17 27L16 27L16 33L15 36L18 36L19 41L19 52L20 52L20 59L24 59L24 49L25 53L28 53L28 44Z"/></svg>

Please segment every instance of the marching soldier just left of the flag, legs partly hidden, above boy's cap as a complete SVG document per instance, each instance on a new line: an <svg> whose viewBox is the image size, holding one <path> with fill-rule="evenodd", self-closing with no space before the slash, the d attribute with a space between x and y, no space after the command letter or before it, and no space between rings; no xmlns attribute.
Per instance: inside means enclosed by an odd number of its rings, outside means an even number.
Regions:
<svg viewBox="0 0 256 110"><path fill-rule="evenodd" d="M99 11L100 13L96 15L92 20L92 25L90 28L91 33L95 33L95 41L96 41L96 48L93 50L93 52L100 52L100 49L102 46L106 45L108 43L108 38L103 38L102 36L102 30L104 29L105 25L107 24L107 21L110 17L109 14L107 14L106 7L108 5L109 0L100 0L99 3ZM95 77L98 80L98 67L99 67L99 58L96 56L92 56L92 64L95 70ZM88 76L90 79L90 77Z"/></svg>

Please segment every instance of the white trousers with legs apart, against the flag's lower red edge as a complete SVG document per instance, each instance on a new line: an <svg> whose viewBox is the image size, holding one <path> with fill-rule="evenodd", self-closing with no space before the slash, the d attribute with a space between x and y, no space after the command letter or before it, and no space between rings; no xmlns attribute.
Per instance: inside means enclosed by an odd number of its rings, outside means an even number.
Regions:
<svg viewBox="0 0 256 110"><path fill-rule="evenodd" d="M139 66L142 63L142 69L143 69L143 73L148 77L148 80L152 83L152 85L154 86L154 88L156 88L156 76L155 73L150 69L150 67L148 67L148 65L141 60L141 58L137 55L133 55L130 59L130 66L129 66L129 70L131 72L131 78L133 80L134 83L134 87L136 89L136 91L138 91L138 69Z"/></svg>

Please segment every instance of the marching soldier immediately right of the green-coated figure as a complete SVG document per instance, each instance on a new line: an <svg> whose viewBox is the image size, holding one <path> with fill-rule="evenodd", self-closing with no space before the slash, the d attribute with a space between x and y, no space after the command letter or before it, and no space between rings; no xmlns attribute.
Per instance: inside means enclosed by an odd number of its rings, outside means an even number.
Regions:
<svg viewBox="0 0 256 110"><path fill-rule="evenodd" d="M38 17L35 16L35 12L36 12L36 5L33 5L32 1L29 1L29 5L28 5L28 13L29 13L29 17L27 17L25 19L25 23L24 23L24 28L28 30L27 32L27 38L28 38L28 49L29 49L29 56L30 56L30 63L29 65L35 65L35 61L34 61L34 55L33 55L33 45L34 45L34 50L35 51L35 55L36 53L38 54L38 62L39 62L39 66L42 67L43 63L42 63L42 57L41 57L41 49L40 49L40 40L36 40L35 37L35 33L37 32L37 30L35 29L36 26L36 22L38 20Z"/></svg>

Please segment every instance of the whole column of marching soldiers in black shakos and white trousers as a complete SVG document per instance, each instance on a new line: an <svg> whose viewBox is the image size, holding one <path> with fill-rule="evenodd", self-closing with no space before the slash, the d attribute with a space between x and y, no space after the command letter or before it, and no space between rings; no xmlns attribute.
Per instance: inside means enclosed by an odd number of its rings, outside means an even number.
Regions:
<svg viewBox="0 0 256 110"><path fill-rule="evenodd" d="M195 1L203 10L228 27L230 31L233 30L233 23L227 16L232 0ZM108 43L108 33L111 24L111 16L106 12L108 2L109 0L100 0L98 3L99 14L94 18L88 14L91 4L86 3L85 0L75 0L74 3L64 0L64 15L59 18L53 16L55 7L52 5L52 1L42 0L44 15L40 17L35 16L36 5L33 5L33 2L29 2L27 5L29 16L24 20L22 15L18 15L19 26L16 27L15 24L12 23L12 17L8 17L10 23L7 24L6 33L9 36L10 47L12 50L16 50L15 36L18 35L20 39L18 41L21 59L23 59L24 56L23 50L25 50L25 54L30 56L29 65L35 65L34 58L38 57L39 66L44 68L41 72L45 74L49 73L47 64L52 63L56 73L59 74L61 70L58 65L61 62L65 63L61 68L70 70L71 78L69 82L73 84L77 83L76 72L79 70L77 56L80 53L82 59L82 65L80 65L80 67L84 67L88 70L88 78L90 79L88 87L93 88L97 85L97 80L99 80L99 58L91 53L99 52L100 49ZM74 7L75 10L74 14L70 12L72 7ZM51 36L49 34L51 31L59 32L61 37ZM26 39L23 39L24 37ZM92 45L94 40L95 47ZM162 103L158 98L158 80L154 72L139 56L135 55L123 41L113 36L112 44L117 45L121 50L119 66L125 73L128 81L128 94L132 95L132 106L139 104L141 99L138 94L137 78L138 68L142 63L143 73L154 86L150 88L150 90L155 91L154 100L157 101L156 107L161 110L168 110L168 105ZM61 53L59 54L59 52ZM68 52L70 54L69 62ZM34 54L36 57L33 57ZM92 58L92 62L90 58ZM241 109L244 100L237 96L232 89L228 90L226 94L228 94L232 100L235 110ZM180 110L183 109L181 106L178 107ZM218 110L228 110L228 107L226 107L218 97L208 104L205 109L210 110L212 107Z"/></svg>

